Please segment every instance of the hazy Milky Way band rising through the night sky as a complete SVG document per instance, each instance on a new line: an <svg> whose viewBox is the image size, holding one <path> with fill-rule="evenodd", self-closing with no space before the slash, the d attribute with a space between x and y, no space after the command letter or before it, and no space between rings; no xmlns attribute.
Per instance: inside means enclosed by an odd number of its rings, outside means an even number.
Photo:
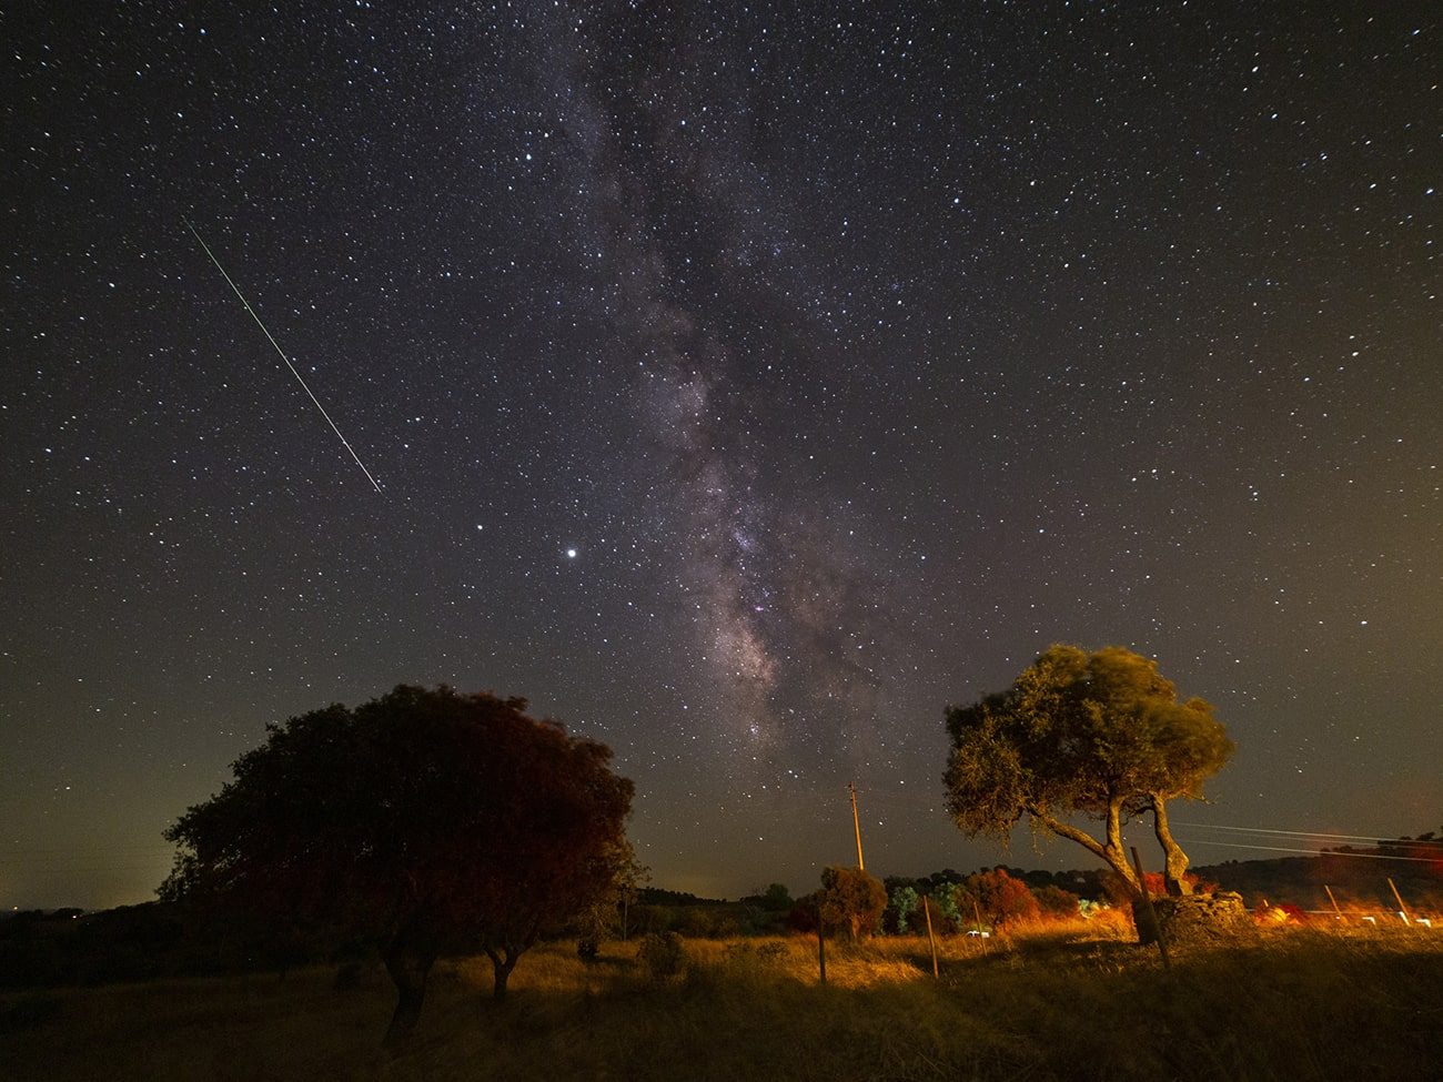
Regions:
<svg viewBox="0 0 1443 1082"><path fill-rule="evenodd" d="M743 744L775 746L789 726L866 727L879 674L874 658L851 655L876 646L879 606L861 600L863 571L805 492L805 456L778 447L766 415L769 395L807 378L794 368L824 359L756 338L766 320L794 336L818 327L791 299L785 206L740 153L745 136L716 130L739 118L707 104L736 91L720 72L745 49L729 36L687 40L685 27L638 40L622 17L538 29L560 42L540 48L564 102L561 153L579 163L580 254L595 245L609 277L597 297L618 330L608 361L633 379L645 439L618 469L642 491L652 528L680 541L664 571L690 602L714 694ZM616 52L648 59L620 72L605 59ZM864 622L866 643L854 641Z"/></svg>

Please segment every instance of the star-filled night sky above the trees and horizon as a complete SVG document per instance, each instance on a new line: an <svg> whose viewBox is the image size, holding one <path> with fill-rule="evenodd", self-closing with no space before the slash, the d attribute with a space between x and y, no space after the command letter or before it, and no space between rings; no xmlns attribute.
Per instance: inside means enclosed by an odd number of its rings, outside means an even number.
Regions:
<svg viewBox="0 0 1443 1082"><path fill-rule="evenodd" d="M1216 705L1195 863L1436 828L1440 32L0 14L0 907L152 897L267 721L403 681L610 744L659 886L812 889L851 780L876 874L1088 867L942 811L1052 642Z"/></svg>

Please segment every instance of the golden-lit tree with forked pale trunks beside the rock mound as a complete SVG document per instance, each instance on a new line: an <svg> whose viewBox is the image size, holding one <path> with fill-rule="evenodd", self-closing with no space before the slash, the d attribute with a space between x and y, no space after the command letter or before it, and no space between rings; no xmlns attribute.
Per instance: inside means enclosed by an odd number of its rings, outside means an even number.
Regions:
<svg viewBox="0 0 1443 1082"><path fill-rule="evenodd" d="M1167 801L1201 799L1232 742L1208 703L1177 701L1157 662L1121 646L1052 646L1006 691L948 708L947 730L947 806L968 835L1006 841L1027 817L1105 860L1137 893L1123 824L1152 812L1167 890L1188 892ZM1100 821L1102 837L1076 818Z"/></svg>

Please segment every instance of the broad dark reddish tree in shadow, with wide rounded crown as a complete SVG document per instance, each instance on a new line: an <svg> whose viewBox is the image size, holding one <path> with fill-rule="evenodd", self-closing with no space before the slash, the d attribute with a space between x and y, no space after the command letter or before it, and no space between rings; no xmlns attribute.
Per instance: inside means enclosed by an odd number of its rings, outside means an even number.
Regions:
<svg viewBox="0 0 1443 1082"><path fill-rule="evenodd" d="M525 700L397 687L267 727L235 779L166 831L165 897L339 926L375 944L414 1027L443 952L521 954L613 883L632 783Z"/></svg>

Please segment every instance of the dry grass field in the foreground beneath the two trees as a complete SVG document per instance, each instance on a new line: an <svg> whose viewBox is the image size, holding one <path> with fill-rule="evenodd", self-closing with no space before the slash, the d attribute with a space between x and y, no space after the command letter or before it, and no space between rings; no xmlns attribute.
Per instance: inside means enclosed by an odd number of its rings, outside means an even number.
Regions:
<svg viewBox="0 0 1443 1082"><path fill-rule="evenodd" d="M652 978L635 944L537 948L494 1003L485 959L437 967L420 1027L380 1047L392 990L280 978L7 994L6 1079L1430 1079L1443 932L1278 928L1156 951L1101 929L941 944L688 941Z"/></svg>

